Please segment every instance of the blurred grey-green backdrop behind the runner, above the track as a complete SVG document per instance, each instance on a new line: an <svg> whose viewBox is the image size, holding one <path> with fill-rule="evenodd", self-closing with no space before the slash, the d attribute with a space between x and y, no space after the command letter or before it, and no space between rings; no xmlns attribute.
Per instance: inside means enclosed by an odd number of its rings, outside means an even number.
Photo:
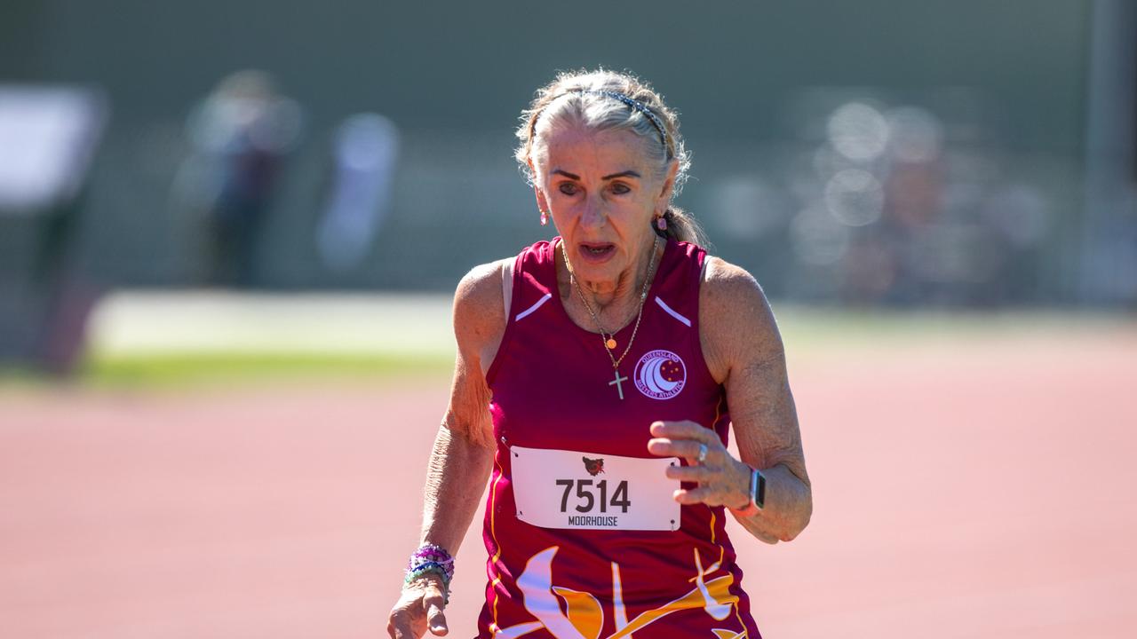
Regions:
<svg viewBox="0 0 1137 639"><path fill-rule="evenodd" d="M8 359L68 367L116 290L448 294L555 234L513 127L557 69L597 66L680 110L678 204L780 302L1137 302L1128 2L8 0L0 18L0 83L88 91L105 125L72 196L0 213ZM284 115L271 167L242 174L201 140L248 69ZM349 183L359 114L373 172ZM242 275L218 275L217 184L242 175L259 222L222 249ZM321 244L345 210L351 250Z"/></svg>

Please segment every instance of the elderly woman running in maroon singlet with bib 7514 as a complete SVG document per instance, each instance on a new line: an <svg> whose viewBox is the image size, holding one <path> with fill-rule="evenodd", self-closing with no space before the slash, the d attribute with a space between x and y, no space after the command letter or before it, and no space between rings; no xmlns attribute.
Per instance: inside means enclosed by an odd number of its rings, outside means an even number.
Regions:
<svg viewBox="0 0 1137 639"><path fill-rule="evenodd" d="M757 639L725 511L769 543L812 512L770 305L672 206L688 153L646 83L562 74L517 135L558 235L458 284L422 546L388 631L447 633L451 554L489 480L478 637Z"/></svg>

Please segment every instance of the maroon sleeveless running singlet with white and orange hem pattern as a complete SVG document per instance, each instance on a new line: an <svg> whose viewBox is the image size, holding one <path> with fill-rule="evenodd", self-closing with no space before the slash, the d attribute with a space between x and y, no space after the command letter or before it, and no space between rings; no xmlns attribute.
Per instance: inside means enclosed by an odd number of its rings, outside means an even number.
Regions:
<svg viewBox="0 0 1137 639"><path fill-rule="evenodd" d="M603 472L604 456L653 457L648 429L657 420L692 420L714 429L723 443L728 438L725 391L699 343L706 251L667 241L617 389L609 384L612 360L599 334L578 326L562 305L554 264L559 241L539 241L517 256L508 322L487 373L497 450L478 637L761 639L721 506L682 506L675 530L543 528L518 517L514 447L590 453L578 476L604 479L612 473L594 474L597 464ZM633 325L616 333L615 357ZM551 508L558 500L570 504L568 492L551 495ZM580 506L578 497L571 504ZM612 487L605 499L619 514Z"/></svg>

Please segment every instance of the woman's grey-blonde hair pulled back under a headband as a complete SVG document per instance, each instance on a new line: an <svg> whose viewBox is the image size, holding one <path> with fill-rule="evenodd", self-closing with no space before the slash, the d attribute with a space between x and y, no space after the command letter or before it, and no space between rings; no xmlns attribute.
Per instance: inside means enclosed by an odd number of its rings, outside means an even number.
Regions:
<svg viewBox="0 0 1137 639"><path fill-rule="evenodd" d="M561 73L556 80L538 89L529 108L522 111L517 127L520 144L514 156L525 180L537 184L534 167L538 166L538 158L545 155L553 132L576 125L592 131L631 131L644 142L644 152L650 164L657 167L656 177L666 175L672 161L678 164L671 192L674 199L687 182L691 164L679 133L677 115L663 102L659 93L630 73L603 68ZM706 243L699 225L679 207L669 202L664 218L667 221L666 235L680 241Z"/></svg>

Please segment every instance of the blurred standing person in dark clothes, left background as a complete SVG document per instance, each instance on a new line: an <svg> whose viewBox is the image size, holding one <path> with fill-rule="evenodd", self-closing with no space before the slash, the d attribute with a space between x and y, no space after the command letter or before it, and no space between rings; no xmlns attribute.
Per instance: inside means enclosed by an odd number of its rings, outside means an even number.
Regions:
<svg viewBox="0 0 1137 639"><path fill-rule="evenodd" d="M257 243L300 130L297 102L277 93L260 70L225 77L190 115L194 171L182 186L205 214L209 283L257 283Z"/></svg>

